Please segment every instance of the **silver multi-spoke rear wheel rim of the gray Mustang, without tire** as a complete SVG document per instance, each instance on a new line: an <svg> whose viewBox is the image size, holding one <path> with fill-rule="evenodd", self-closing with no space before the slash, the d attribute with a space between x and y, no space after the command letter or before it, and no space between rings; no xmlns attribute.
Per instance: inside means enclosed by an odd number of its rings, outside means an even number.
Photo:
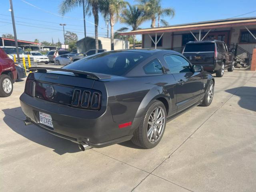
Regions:
<svg viewBox="0 0 256 192"><path fill-rule="evenodd" d="M165 124L165 112L161 106L156 107L148 118L147 138L155 143L161 137Z"/></svg>

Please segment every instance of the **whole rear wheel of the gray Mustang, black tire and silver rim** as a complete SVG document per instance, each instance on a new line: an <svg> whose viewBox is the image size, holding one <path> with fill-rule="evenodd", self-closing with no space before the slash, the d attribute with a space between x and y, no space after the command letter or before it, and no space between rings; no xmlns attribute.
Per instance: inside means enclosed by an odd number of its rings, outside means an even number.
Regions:
<svg viewBox="0 0 256 192"><path fill-rule="evenodd" d="M150 149L158 145L166 127L166 109L162 102L151 102L140 126L134 132L132 142L142 148Z"/></svg>

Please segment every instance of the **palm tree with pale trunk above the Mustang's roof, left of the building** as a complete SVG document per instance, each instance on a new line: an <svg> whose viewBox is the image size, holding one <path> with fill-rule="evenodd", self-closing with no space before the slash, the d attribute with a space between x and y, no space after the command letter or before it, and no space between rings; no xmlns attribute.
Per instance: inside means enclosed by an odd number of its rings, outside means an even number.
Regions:
<svg viewBox="0 0 256 192"><path fill-rule="evenodd" d="M103 3L104 2L104 3ZM110 33L111 33L111 50L114 50L114 24L119 19L119 14L126 6L124 0L103 0L100 5L100 10L104 17L109 17L110 20Z"/></svg>

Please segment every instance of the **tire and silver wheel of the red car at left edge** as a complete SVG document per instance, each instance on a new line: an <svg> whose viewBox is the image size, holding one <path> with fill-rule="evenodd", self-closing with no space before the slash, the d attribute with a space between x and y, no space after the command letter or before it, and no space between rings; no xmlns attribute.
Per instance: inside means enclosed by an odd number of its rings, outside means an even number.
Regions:
<svg viewBox="0 0 256 192"><path fill-rule="evenodd" d="M8 97L12 94L12 79L8 75L0 76L0 97Z"/></svg>

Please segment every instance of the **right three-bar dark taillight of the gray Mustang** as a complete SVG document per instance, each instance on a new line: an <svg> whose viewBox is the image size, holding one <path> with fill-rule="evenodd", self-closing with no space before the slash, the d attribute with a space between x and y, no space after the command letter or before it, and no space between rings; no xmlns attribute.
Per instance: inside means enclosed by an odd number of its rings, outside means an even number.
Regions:
<svg viewBox="0 0 256 192"><path fill-rule="evenodd" d="M99 110L101 93L95 90L75 89L73 92L71 106L89 110Z"/></svg>

